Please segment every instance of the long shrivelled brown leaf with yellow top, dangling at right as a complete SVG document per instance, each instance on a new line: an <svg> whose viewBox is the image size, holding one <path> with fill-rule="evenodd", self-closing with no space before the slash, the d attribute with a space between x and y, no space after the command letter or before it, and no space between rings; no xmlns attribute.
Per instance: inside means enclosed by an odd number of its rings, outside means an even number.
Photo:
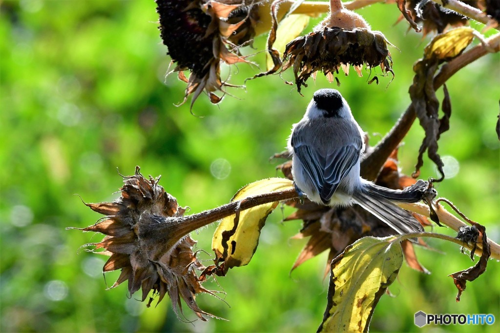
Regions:
<svg viewBox="0 0 500 333"><path fill-rule="evenodd" d="M439 65L460 55L474 38L475 30L469 27L460 27L435 36L425 46L424 56L413 65L415 76L409 88L411 104L420 121L420 126L425 130L425 137L418 152L414 177L418 177L420 167L423 165L423 154L427 151L428 157L435 163L437 170L444 179L443 163L437 154L437 140L449 128L451 116L451 103L446 86L443 86L444 100L442 102L443 116L439 118L437 100L434 89L434 74Z"/></svg>

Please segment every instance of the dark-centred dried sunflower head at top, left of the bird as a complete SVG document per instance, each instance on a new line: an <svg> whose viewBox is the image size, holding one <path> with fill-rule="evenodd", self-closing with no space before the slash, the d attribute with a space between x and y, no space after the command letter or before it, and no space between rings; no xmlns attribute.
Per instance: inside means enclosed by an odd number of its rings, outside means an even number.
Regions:
<svg viewBox="0 0 500 333"><path fill-rule="evenodd" d="M262 1L155 1L161 39L175 64L172 71L187 83L183 102L192 94L192 107L204 90L212 103L218 103L224 86L234 86L220 78L220 63L248 62L238 47L253 38ZM190 72L189 77L184 71Z"/></svg>

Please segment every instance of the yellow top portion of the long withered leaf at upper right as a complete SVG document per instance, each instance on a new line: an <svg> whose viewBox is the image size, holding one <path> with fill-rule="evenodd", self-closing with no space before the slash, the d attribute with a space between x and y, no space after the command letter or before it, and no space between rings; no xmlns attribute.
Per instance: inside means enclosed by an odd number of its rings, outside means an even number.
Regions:
<svg viewBox="0 0 500 333"><path fill-rule="evenodd" d="M440 33L425 46L425 58L435 57L442 60L450 60L459 55L474 39L475 30L463 26Z"/></svg>

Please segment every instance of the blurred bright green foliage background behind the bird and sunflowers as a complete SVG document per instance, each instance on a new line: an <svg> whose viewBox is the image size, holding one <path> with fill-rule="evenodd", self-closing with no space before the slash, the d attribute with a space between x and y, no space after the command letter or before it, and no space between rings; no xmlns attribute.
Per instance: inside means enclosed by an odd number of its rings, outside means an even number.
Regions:
<svg viewBox="0 0 500 333"><path fill-rule="evenodd" d="M291 124L301 118L313 91L333 85L318 75L301 97L279 76L264 77L247 81L245 90L230 89L236 97L227 96L218 106L201 96L193 116L188 103L174 106L182 100L183 83L175 75L164 80L170 59L152 0L7 0L0 11L0 331L314 332L326 305L326 254L290 274L305 240L289 239L300 228L298 222L281 223L289 208L269 217L248 266L218 278L220 287L205 284L223 290L225 302L201 295L198 304L228 320L207 323L178 321L167 298L146 309L139 296L127 295L126 284L106 291L119 273L104 279L105 258L79 250L101 236L64 228L84 227L100 217L74 194L85 202L115 199L121 186L116 168L132 174L140 165L145 175L161 174L160 185L189 206L189 213L228 202L245 184L276 175L278 162L268 157L284 149ZM391 49L395 78L390 84L387 77L368 85L367 73L340 77L339 89L375 143L377 133L386 133L407 107L412 64L429 37L407 32L405 22L393 26L399 16L395 5L359 12L399 49ZM260 36L255 46L261 49L264 43ZM263 65L264 54L252 60ZM496 241L499 64L498 54L487 55L449 80L451 128L442 135L439 152L447 156L449 172L458 173L438 185L441 196L484 224ZM227 68L223 71L227 75ZM232 82L242 83L255 71L240 64L231 70ZM292 79L291 72L284 78ZM422 136L415 123L400 148L400 166L407 174ZM421 176L435 175L425 159ZM210 250L213 229L192 235L197 249ZM417 254L432 274L404 265L390 287L396 297L382 297L371 331L498 332L498 263L490 261L486 274L469 283L455 303L447 275L471 262L452 244L428 243L439 252L417 249ZM187 320L195 319L184 309ZM490 313L496 322L418 329L413 314L419 310Z"/></svg>

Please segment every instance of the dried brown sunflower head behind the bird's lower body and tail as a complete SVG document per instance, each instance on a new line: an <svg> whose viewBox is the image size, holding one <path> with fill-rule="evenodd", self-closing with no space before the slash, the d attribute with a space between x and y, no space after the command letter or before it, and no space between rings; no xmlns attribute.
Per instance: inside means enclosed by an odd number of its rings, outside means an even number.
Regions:
<svg viewBox="0 0 500 333"><path fill-rule="evenodd" d="M290 161L279 165L278 168L281 169L285 177L292 179ZM376 184L392 189L403 189L414 183L415 180L413 178L399 172L397 150L395 150L387 159ZM288 204L297 208L297 210L288 216L285 221L303 221L302 229L293 238L302 239L309 237L307 244L302 249L292 269L295 269L306 260L313 258L323 251L329 250L325 271L327 273L331 260L341 253L347 245L364 236L385 237L394 235L395 233L392 228L359 206L331 208L318 205L307 199L304 199L302 204L298 202L289 202ZM413 216L423 226L430 225L425 217L417 214L413 214ZM426 246L421 240L419 240L419 243ZM407 264L415 270L428 273L418 263L413 244L409 241L403 241L402 245Z"/></svg>

